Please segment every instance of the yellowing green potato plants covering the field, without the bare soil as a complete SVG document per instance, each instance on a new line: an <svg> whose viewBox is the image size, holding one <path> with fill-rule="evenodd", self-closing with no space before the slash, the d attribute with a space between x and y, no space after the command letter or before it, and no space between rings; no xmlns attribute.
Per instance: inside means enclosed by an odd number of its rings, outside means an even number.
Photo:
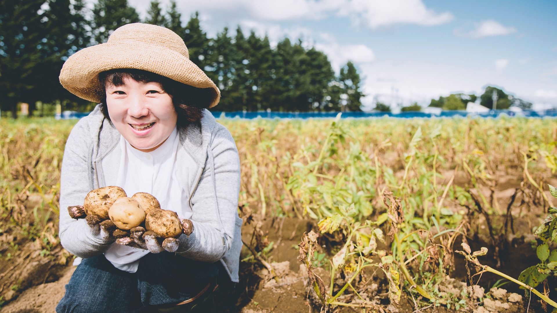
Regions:
<svg viewBox="0 0 557 313"><path fill-rule="evenodd" d="M58 244L60 164L75 123L50 118L0 120L0 232L31 238L39 251L54 250ZM439 295L434 286L454 267L457 238L481 232L469 223L485 221L484 233L497 246L512 231L511 208L518 206L534 227L538 223L532 210L549 209L555 202L544 192L557 171L553 119L219 119L219 123L231 131L240 154L240 215L315 221L314 234L303 239L305 260L313 266L328 259L331 262L323 267L346 277L368 267L384 271L390 277L388 297L393 302L409 292L429 304L462 307L453 297ZM512 196L520 197L519 203L511 199L507 208L500 206L495 192L505 175L524 177ZM149 199L134 199L141 206L156 206ZM551 239L552 223L548 220L539 228L541 239ZM20 243L0 244L5 258L13 254L10 247ZM254 250L252 259L266 262L272 244L265 247L265 253ZM317 260L323 253L328 255ZM483 252L463 253L473 262ZM51 255L64 261L65 256ZM550 257L541 258L536 270L550 270L552 275ZM358 297L355 284L363 282L357 277L342 286L335 282L321 286L323 303L341 305L336 303L343 303L340 295L335 297L340 290L341 295ZM314 278L319 289L319 278Z"/></svg>

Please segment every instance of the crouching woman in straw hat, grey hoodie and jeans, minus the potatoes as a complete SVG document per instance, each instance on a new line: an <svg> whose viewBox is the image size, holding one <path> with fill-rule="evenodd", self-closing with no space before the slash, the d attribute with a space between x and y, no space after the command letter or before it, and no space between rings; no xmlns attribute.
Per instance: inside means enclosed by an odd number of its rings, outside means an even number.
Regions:
<svg viewBox="0 0 557 313"><path fill-rule="evenodd" d="M67 140L60 206L117 185L153 194L188 231L178 247L116 244L99 224L60 213L60 240L81 257L57 312L192 311L226 282L238 282L240 161L231 134L206 109L216 85L164 27L134 23L108 42L76 52L61 84L101 104ZM142 246L146 247L146 246ZM224 279L223 279L224 277Z"/></svg>

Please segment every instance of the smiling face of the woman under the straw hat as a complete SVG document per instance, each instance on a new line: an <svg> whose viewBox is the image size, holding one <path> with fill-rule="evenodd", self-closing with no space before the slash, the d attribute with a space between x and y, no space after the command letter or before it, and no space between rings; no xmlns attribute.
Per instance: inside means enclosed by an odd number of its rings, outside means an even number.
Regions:
<svg viewBox="0 0 557 313"><path fill-rule="evenodd" d="M178 119L172 96L158 82L137 82L125 77L122 86L107 84L106 106L120 134L143 152L162 145Z"/></svg>

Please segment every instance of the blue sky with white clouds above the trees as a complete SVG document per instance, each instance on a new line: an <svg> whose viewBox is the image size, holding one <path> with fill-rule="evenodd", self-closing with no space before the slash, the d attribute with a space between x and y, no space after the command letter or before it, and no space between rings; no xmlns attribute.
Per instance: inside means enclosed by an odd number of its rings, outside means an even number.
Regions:
<svg viewBox="0 0 557 313"><path fill-rule="evenodd" d="M129 0L145 17L150 0ZM167 8L169 0L161 0ZM364 78L364 109L375 101L429 105L432 98L486 86L557 106L557 1L177 0L184 25L198 11L213 37L240 25L302 38L335 71L351 60Z"/></svg>

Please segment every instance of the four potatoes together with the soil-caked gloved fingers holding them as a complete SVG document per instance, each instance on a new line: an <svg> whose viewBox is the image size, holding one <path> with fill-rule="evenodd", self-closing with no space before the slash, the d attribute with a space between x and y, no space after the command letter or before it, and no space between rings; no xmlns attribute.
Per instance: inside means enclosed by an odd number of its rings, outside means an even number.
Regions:
<svg viewBox="0 0 557 313"><path fill-rule="evenodd" d="M68 212L72 218L85 218L91 226L100 224L116 243L155 253L176 251L176 238L193 231L191 221L180 221L176 212L161 209L153 195L138 192L128 198L124 189L116 186L91 190L83 206L68 207Z"/></svg>

